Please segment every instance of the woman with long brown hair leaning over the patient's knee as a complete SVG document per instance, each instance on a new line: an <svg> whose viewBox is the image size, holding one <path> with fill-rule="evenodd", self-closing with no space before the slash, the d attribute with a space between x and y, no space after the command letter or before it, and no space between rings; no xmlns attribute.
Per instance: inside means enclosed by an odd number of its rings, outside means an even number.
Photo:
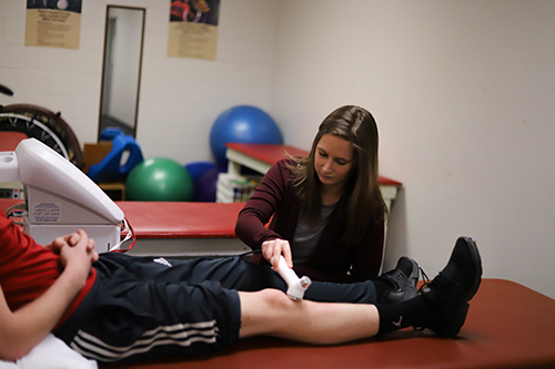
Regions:
<svg viewBox="0 0 555 369"><path fill-rule="evenodd" d="M275 163L240 212L238 237L261 250L251 262L283 255L297 275L314 280L377 276L387 218L377 151L377 126L369 111L345 105L327 115L309 156Z"/></svg>

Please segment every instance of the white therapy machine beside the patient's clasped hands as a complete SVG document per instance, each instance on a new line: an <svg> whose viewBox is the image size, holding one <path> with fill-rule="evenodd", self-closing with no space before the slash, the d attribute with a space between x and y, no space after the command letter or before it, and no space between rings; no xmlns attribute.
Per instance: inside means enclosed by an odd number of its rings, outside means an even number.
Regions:
<svg viewBox="0 0 555 369"><path fill-rule="evenodd" d="M0 182L23 184L23 232L38 244L83 229L99 253L121 245L123 212L77 166L36 139L0 152Z"/></svg>

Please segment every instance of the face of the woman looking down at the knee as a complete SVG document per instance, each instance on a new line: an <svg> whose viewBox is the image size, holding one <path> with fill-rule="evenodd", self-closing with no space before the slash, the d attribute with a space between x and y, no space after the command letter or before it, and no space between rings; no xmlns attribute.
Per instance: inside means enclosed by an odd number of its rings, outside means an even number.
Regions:
<svg viewBox="0 0 555 369"><path fill-rule="evenodd" d="M314 168L322 185L342 187L353 167L351 142L333 134L324 134L316 144Z"/></svg>

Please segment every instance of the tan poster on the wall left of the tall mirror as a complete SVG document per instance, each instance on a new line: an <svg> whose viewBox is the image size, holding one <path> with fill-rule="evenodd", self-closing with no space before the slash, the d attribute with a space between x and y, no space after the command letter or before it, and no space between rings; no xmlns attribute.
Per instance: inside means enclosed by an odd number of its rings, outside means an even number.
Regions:
<svg viewBox="0 0 555 369"><path fill-rule="evenodd" d="M79 49L82 0L27 0L26 47Z"/></svg>

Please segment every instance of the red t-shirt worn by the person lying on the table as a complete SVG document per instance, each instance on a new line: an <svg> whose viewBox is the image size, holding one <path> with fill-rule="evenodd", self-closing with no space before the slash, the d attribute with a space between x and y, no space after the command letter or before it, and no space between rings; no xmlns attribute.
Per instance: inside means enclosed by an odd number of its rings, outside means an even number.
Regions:
<svg viewBox="0 0 555 369"><path fill-rule="evenodd" d="M0 285L12 311L40 297L62 273L60 256L37 244L20 227L0 215ZM97 278L91 268L85 286L65 310L61 326L77 309Z"/></svg>

